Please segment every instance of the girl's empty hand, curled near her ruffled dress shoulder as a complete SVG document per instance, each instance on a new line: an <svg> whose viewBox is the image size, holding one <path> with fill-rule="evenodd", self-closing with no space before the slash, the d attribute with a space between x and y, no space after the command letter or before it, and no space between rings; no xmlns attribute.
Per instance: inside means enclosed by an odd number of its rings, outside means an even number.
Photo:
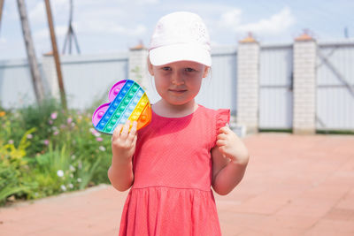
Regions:
<svg viewBox="0 0 354 236"><path fill-rule="evenodd" d="M219 129L216 145L222 155L230 158L236 164L248 163L249 152L246 146L228 126Z"/></svg>

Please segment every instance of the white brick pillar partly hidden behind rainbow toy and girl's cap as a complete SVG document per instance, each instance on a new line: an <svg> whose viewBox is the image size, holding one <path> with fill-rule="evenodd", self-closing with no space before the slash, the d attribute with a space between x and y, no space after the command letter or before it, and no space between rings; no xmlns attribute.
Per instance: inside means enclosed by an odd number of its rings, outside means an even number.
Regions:
<svg viewBox="0 0 354 236"><path fill-rule="evenodd" d="M148 87L148 54L148 49L142 43L129 50L128 79L135 80L144 89Z"/></svg>

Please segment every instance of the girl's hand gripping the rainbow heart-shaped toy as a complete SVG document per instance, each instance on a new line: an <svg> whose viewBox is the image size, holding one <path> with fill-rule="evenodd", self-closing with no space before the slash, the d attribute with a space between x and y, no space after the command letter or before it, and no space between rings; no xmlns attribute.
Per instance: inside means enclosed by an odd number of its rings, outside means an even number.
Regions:
<svg viewBox="0 0 354 236"><path fill-rule="evenodd" d="M117 126L112 134L112 154L113 158L119 162L131 161L135 153L137 122L133 122L130 132L129 126L130 120L127 120L124 126Z"/></svg>

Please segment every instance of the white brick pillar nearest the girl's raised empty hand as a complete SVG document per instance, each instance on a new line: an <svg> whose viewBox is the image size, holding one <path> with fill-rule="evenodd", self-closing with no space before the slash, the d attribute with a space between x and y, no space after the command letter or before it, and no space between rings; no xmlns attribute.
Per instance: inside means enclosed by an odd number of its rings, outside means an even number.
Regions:
<svg viewBox="0 0 354 236"><path fill-rule="evenodd" d="M237 124L258 132L259 44L250 34L237 49Z"/></svg>

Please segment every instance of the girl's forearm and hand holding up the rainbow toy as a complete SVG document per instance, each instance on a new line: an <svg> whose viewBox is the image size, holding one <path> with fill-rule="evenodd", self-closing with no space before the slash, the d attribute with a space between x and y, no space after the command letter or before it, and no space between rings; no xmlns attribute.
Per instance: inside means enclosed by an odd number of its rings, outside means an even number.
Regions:
<svg viewBox="0 0 354 236"><path fill-rule="evenodd" d="M108 170L108 178L112 186L119 191L126 191L134 181L133 156L136 145L136 121L129 132L130 121L119 125L112 135L112 165Z"/></svg>

